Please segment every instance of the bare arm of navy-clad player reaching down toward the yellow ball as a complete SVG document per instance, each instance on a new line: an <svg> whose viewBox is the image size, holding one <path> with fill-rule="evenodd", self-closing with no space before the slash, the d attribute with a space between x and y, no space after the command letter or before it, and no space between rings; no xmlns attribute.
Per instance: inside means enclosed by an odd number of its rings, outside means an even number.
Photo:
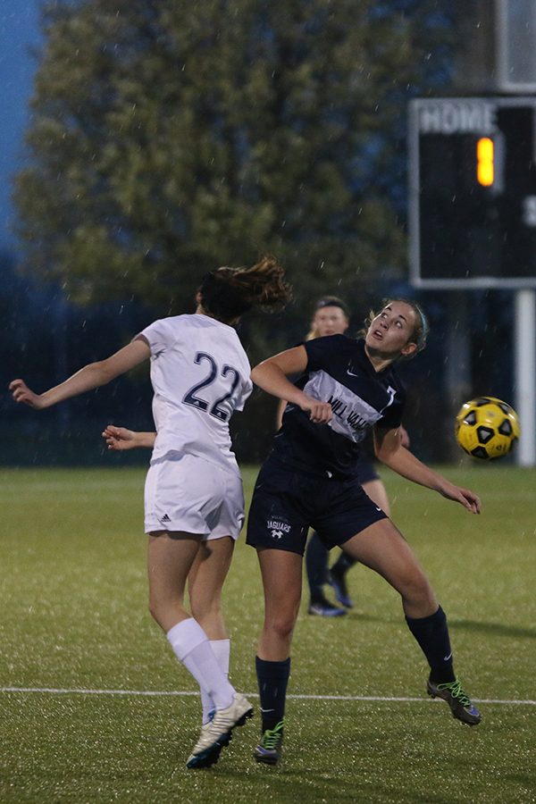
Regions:
<svg viewBox="0 0 536 804"><path fill-rule="evenodd" d="M472 514L480 514L481 501L478 495L468 489L462 489L434 472L430 466L423 464L415 455L402 446L400 433L397 430L374 431L374 450L379 460L389 469L406 477L414 483L438 491L443 497L452 499L464 506Z"/></svg>

